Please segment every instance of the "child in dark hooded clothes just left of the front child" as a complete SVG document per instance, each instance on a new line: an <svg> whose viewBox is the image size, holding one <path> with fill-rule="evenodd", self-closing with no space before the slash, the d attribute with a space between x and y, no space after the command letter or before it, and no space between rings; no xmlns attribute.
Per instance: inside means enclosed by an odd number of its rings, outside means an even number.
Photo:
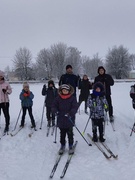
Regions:
<svg viewBox="0 0 135 180"><path fill-rule="evenodd" d="M46 117L48 121L48 127L55 126L55 113L52 112L51 107L52 103L57 96L57 88L54 85L53 80L48 81L48 88L46 88L46 85L43 86L42 89L42 95L46 96L45 98L45 106L46 106Z"/></svg>

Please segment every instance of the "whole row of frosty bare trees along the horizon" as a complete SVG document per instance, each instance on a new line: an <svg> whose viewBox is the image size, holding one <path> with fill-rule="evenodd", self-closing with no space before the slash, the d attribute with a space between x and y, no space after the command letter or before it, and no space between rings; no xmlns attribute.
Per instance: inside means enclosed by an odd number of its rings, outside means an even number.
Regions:
<svg viewBox="0 0 135 180"><path fill-rule="evenodd" d="M97 75L98 66L103 65L107 73L116 79L128 78L129 71L135 69L135 54L128 49L114 46L109 49L106 57L101 59L97 54L92 58L81 56L76 47L68 47L64 43L42 49L37 54L36 62L32 62L32 53L26 47L19 48L13 58L13 70L19 80L60 78L65 73L65 66L71 64L75 74L87 74L90 78Z"/></svg>

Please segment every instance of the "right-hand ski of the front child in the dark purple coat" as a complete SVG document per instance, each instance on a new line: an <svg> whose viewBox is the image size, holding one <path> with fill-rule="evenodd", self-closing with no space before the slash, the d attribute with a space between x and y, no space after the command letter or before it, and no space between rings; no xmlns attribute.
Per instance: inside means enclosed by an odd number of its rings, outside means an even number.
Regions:
<svg viewBox="0 0 135 180"><path fill-rule="evenodd" d="M73 146L73 149L74 149L74 150L75 150L75 148L76 148L77 143L78 143L78 141L76 141L75 144L74 144L74 146ZM66 174L66 171L67 171L68 166L69 166L69 164L70 164L70 161L71 161L71 159L72 159L72 157L73 157L73 154L74 154L74 153L68 154L68 158L67 158L66 164L65 164L65 166L64 166L64 168L63 168L63 171L62 171L62 174L61 174L61 176L60 176L61 179L62 179L62 178L65 176L65 174Z"/></svg>

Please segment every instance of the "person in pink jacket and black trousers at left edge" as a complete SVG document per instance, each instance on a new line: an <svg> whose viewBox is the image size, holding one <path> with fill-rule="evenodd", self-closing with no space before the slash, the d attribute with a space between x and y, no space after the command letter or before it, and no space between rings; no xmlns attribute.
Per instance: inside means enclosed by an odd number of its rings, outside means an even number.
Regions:
<svg viewBox="0 0 135 180"><path fill-rule="evenodd" d="M4 72L0 70L0 113L1 109L5 117L5 129L4 133L8 132L10 124L10 115L9 115L9 97L8 95L12 93L11 86L8 82L5 82Z"/></svg>

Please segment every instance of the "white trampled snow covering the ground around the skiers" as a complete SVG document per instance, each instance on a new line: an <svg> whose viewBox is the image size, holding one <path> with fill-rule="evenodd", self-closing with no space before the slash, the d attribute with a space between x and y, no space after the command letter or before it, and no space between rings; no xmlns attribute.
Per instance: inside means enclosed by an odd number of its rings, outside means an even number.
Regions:
<svg viewBox="0 0 135 180"><path fill-rule="evenodd" d="M115 83L112 87L112 99L115 115L115 129L111 124L106 125L105 138L107 145L118 159L107 160L95 145L88 146L78 131L74 128L75 140L78 140L75 154L71 160L65 180L130 180L135 178L135 134L130 137L131 127L134 123L134 110L129 97L130 86L133 83ZM19 111L19 94L21 84L11 84L13 93L10 95L10 132L15 126ZM31 84L34 93L33 114L38 131L30 138L30 119L26 117L26 127L16 136L7 135L0 140L0 180L47 180L54 165L57 151L60 147L59 131L57 143L54 136L46 137L46 118L42 130L39 129L44 97L41 95L43 84ZM80 114L76 115L76 126L83 132L88 115L83 112L84 104L80 107ZM21 119L20 119L21 120ZM18 126L20 124L20 120ZM1 131L5 122L1 115ZM91 122L86 129L91 133ZM62 157L54 180L60 179L61 172L67 159L67 153Z"/></svg>

